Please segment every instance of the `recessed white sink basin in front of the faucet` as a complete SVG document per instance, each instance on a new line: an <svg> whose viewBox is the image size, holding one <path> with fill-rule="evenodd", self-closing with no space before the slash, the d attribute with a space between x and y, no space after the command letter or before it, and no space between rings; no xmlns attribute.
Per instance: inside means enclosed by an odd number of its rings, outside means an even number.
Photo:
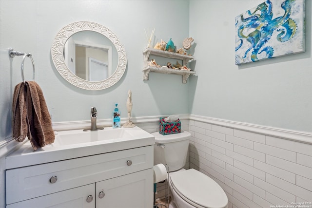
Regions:
<svg viewBox="0 0 312 208"><path fill-rule="evenodd" d="M131 132L131 131L130 131ZM83 132L82 130L63 131L56 134L59 145L74 145L79 143L98 142L104 140L133 139L135 136L125 128L105 128L104 130Z"/></svg>

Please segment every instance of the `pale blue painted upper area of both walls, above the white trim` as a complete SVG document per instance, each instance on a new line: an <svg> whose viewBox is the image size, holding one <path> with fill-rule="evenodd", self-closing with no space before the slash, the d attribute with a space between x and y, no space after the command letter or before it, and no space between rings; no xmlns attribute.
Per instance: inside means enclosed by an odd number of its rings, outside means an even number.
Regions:
<svg viewBox="0 0 312 208"><path fill-rule="evenodd" d="M111 117L114 103L121 113L129 89L133 116L192 113L238 122L312 132L311 1L306 1L306 52L234 65L234 17L262 0L0 0L0 141L11 136L14 86L21 81L21 57L8 48L33 54L36 81L41 86L53 122ZM51 44L65 25L94 21L112 30L123 43L127 71L111 88L86 91L72 86L56 71ZM187 84L181 76L150 74L143 81L144 29L156 29L155 41L173 38L181 47L195 39L196 61ZM28 60L29 61L29 60ZM29 63L26 63L29 64ZM28 65L29 66L29 65ZM25 67L31 77L31 67ZM27 74L28 73L28 74ZM126 117L126 114L122 114Z"/></svg>

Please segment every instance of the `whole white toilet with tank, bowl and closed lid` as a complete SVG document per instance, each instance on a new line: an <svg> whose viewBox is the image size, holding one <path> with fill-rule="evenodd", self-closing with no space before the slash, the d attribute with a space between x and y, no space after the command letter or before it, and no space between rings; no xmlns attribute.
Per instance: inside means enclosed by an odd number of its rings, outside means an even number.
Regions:
<svg viewBox="0 0 312 208"><path fill-rule="evenodd" d="M195 169L185 170L190 132L155 136L154 165L168 164L171 190L169 208L227 208L224 190L210 177Z"/></svg>

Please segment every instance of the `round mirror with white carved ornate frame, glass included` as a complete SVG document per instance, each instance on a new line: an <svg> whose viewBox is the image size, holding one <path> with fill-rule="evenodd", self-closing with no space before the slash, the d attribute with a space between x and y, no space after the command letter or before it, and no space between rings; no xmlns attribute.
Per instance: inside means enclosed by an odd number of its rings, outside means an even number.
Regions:
<svg viewBox="0 0 312 208"><path fill-rule="evenodd" d="M53 63L69 83L85 90L116 84L127 66L122 43L108 28L79 21L62 28L51 48Z"/></svg>

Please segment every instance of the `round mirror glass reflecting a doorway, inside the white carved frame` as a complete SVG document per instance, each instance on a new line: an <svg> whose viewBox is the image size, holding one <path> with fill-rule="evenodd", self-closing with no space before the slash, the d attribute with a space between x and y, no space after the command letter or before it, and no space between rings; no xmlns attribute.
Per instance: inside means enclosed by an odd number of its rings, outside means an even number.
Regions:
<svg viewBox="0 0 312 208"><path fill-rule="evenodd" d="M97 32L81 31L66 41L64 61L76 76L101 81L114 74L112 69L116 70L118 56L110 39Z"/></svg>

